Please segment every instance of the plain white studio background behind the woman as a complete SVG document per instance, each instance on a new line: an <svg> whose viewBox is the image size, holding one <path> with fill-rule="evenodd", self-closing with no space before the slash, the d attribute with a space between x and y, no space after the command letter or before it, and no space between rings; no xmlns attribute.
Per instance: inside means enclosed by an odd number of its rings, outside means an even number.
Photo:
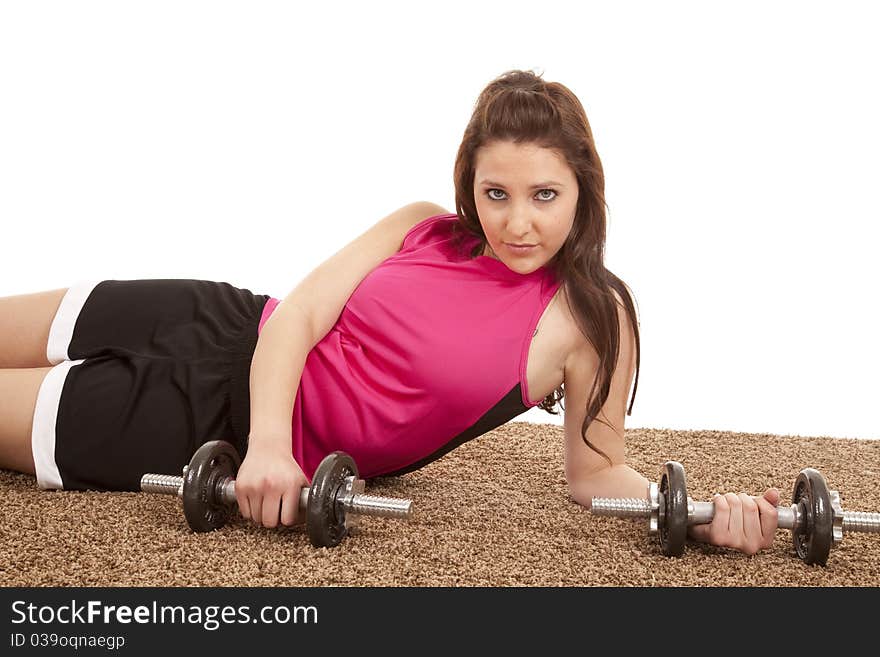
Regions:
<svg viewBox="0 0 880 657"><path fill-rule="evenodd" d="M605 167L641 318L627 426L880 438L871 6L3 3L0 295L281 298L401 205L454 210L477 94L537 69Z"/></svg>

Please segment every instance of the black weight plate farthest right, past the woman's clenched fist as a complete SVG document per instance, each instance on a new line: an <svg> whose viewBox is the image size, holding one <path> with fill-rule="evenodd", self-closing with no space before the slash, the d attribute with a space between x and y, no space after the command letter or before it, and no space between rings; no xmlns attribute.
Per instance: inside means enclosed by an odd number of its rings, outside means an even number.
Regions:
<svg viewBox="0 0 880 657"><path fill-rule="evenodd" d="M824 566L831 552L834 524L834 510L825 477L813 468L801 470L794 482L791 501L799 505L804 514L804 529L791 535L797 555L805 563Z"/></svg>

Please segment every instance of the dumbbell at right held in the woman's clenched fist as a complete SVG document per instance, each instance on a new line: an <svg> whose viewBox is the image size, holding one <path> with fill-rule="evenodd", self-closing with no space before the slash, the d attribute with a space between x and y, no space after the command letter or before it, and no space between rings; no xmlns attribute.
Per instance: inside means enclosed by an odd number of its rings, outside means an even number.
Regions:
<svg viewBox="0 0 880 657"><path fill-rule="evenodd" d="M667 556L684 553L688 525L704 525L715 517L714 502L694 502L687 495L684 466L666 461L659 484L648 485L647 499L594 497L597 516L647 518L648 532L657 534ZM845 531L880 533L880 513L846 511L840 495L829 490L818 470L804 468L797 476L790 506L776 507L779 529L790 529L794 549L804 562L824 566Z"/></svg>

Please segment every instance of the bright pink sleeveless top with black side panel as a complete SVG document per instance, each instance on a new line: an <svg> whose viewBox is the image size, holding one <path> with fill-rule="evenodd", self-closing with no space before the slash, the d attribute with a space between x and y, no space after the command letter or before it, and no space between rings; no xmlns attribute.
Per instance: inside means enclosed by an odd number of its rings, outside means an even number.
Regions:
<svg viewBox="0 0 880 657"><path fill-rule="evenodd" d="M334 450L363 478L398 474L541 402L529 398L528 350L560 282L547 267L523 275L470 259L479 240L455 248L457 224L445 214L414 226L309 352L292 426L309 478ZM266 304L260 330L278 303Z"/></svg>

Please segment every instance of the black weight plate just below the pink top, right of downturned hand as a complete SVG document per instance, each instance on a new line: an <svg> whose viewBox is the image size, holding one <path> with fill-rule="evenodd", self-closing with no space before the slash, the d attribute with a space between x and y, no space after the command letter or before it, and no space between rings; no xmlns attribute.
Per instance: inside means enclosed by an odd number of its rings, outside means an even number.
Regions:
<svg viewBox="0 0 880 657"><path fill-rule="evenodd" d="M345 512L337 507L336 494L346 477L357 478L357 466L345 452L324 457L312 476L306 526L315 547L334 547L345 538Z"/></svg>

